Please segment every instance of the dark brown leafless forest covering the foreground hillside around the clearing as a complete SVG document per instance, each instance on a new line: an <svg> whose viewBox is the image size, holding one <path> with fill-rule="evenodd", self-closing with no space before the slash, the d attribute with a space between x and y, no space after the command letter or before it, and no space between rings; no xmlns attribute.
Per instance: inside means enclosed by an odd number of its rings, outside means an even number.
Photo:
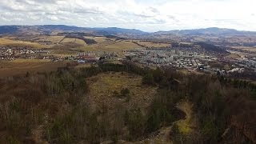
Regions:
<svg viewBox="0 0 256 144"><path fill-rule="evenodd" d="M158 86L158 94L146 113L137 107L118 110L115 119L107 110L90 111L86 78L103 72L141 75L145 86ZM130 91L115 92L119 98ZM198 132L184 135L173 126L174 143L256 142L256 86L214 75L180 74L151 70L129 62L70 67L56 72L29 74L0 80L0 143L34 143L30 135L42 131L50 143L99 143L140 141L184 117L177 102L193 103ZM66 109L69 107L69 109ZM113 126L114 121L114 126ZM126 128L127 134L122 134Z"/></svg>

